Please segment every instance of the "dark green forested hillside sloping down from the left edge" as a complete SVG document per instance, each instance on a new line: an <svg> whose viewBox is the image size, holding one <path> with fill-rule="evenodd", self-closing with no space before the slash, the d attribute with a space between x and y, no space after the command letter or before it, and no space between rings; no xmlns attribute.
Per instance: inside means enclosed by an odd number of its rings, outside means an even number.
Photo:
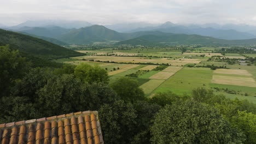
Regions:
<svg viewBox="0 0 256 144"><path fill-rule="evenodd" d="M22 52L44 59L83 55L82 53L66 49L65 47L49 43L42 39L0 29L0 45L7 44L13 49L18 49Z"/></svg>

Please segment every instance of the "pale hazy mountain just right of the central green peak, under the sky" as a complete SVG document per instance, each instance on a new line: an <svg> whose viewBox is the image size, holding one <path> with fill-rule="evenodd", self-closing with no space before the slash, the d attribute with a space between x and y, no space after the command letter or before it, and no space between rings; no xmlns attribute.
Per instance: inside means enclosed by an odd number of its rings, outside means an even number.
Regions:
<svg viewBox="0 0 256 144"><path fill-rule="evenodd" d="M104 25L109 29L113 29L117 32L130 32L132 29L144 28L144 27L156 27L158 24L147 23L147 22L136 22L136 23L117 23L114 25Z"/></svg>

